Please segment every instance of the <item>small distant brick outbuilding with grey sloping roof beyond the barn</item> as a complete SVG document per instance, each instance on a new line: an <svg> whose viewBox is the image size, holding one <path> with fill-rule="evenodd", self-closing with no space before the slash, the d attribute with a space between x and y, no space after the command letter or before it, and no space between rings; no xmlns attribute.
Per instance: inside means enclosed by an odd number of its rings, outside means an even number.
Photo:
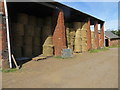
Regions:
<svg viewBox="0 0 120 90"><path fill-rule="evenodd" d="M111 31L105 31L105 46L117 46L120 42L120 37L113 34Z"/></svg>

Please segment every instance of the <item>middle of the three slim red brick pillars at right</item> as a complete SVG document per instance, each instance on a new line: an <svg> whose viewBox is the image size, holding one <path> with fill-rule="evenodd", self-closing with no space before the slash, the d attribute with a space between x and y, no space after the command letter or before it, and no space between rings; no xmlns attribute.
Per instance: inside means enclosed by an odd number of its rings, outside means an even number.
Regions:
<svg viewBox="0 0 120 90"><path fill-rule="evenodd" d="M94 23L94 32L95 32L95 49L99 48L99 36L98 36L98 21Z"/></svg>

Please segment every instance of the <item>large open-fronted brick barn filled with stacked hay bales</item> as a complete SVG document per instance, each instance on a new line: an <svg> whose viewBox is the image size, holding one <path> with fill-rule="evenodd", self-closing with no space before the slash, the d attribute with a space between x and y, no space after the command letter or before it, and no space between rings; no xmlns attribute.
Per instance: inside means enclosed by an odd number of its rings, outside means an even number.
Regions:
<svg viewBox="0 0 120 90"><path fill-rule="evenodd" d="M0 57L4 68L12 67L11 55L15 58L61 56L66 48L81 53L104 47L104 21L58 2L1 2L0 14Z"/></svg>

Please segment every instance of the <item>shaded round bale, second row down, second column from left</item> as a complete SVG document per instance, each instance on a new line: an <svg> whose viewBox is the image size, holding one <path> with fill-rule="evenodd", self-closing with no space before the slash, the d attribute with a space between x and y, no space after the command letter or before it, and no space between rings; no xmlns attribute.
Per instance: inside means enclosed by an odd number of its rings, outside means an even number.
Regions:
<svg viewBox="0 0 120 90"><path fill-rule="evenodd" d="M25 25L24 26L24 35L25 36L34 36L35 27L32 25Z"/></svg>

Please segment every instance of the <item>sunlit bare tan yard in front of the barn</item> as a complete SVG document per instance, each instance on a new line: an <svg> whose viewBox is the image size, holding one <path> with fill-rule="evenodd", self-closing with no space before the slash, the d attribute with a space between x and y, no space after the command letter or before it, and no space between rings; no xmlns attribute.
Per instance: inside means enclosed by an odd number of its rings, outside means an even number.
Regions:
<svg viewBox="0 0 120 90"><path fill-rule="evenodd" d="M3 88L117 88L118 49L30 61L2 80Z"/></svg>

